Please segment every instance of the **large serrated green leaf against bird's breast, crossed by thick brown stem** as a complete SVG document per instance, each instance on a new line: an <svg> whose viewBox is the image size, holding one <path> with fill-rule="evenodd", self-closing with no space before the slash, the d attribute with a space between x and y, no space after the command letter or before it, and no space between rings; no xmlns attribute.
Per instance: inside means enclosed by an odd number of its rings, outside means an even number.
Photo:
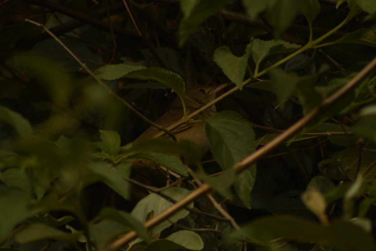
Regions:
<svg viewBox="0 0 376 251"><path fill-rule="evenodd" d="M222 111L205 122L206 135L215 160L222 170L243 160L256 151L255 133L252 126L239 114ZM255 183L256 165L248 167L235 178L238 196L250 207L250 193Z"/></svg>

